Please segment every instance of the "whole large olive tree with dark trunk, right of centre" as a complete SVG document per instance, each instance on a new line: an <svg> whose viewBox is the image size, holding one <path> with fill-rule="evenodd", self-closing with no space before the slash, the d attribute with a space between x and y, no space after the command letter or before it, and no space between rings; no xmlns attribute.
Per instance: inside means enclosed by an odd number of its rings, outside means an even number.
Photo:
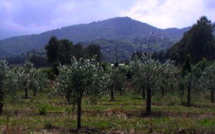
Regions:
<svg viewBox="0 0 215 134"><path fill-rule="evenodd" d="M130 65L131 68L139 69L139 71L136 73L139 75L138 77L142 81L140 86L145 85L147 92L146 114L150 115L152 91L155 91L158 87L160 87L163 84L162 82L166 81L165 79L170 78L173 73L170 72L171 69L166 68L172 68L173 65L170 62L165 62L162 64L159 61L154 60L151 54L143 54L142 58L139 59L138 62L131 62Z"/></svg>

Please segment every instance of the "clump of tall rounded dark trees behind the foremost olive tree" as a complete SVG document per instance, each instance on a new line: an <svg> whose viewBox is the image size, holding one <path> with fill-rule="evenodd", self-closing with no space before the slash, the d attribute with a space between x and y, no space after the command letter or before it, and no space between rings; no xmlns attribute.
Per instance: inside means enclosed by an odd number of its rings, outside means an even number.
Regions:
<svg viewBox="0 0 215 134"><path fill-rule="evenodd" d="M100 46L98 45L83 47L81 44L74 45L66 39L57 40L56 37L51 37L45 49L49 61L61 65L70 64L73 56L77 59L95 58L98 62L101 61L102 57Z"/></svg>

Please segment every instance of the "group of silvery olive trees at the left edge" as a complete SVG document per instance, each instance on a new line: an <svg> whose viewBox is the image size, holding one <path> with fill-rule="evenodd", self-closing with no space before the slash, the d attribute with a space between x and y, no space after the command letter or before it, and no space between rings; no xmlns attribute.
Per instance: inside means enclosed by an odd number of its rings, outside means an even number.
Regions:
<svg viewBox="0 0 215 134"><path fill-rule="evenodd" d="M4 100L17 98L17 92L24 89L24 98L28 98L28 90L32 89L34 95L47 85L44 73L36 70L33 64L26 62L23 66L10 68L5 60L0 60L0 114L3 113Z"/></svg>

